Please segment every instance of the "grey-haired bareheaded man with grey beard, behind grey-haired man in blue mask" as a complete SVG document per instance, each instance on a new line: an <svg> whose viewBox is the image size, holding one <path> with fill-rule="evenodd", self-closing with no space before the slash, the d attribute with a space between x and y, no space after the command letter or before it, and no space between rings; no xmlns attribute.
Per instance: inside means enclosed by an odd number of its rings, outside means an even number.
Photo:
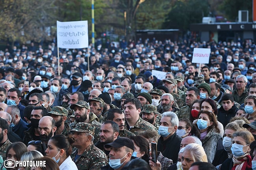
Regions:
<svg viewBox="0 0 256 170"><path fill-rule="evenodd" d="M175 108L173 106L174 103L174 99L173 99L173 95L171 95L170 93L165 93L161 96L161 111L160 113L163 112L174 112L177 113L179 111L178 108Z"/></svg>

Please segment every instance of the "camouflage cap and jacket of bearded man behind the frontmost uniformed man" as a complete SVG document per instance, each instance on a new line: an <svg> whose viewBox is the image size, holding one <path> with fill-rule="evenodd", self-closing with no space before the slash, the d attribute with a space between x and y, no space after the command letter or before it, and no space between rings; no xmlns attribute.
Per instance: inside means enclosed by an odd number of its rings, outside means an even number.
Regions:
<svg viewBox="0 0 256 170"><path fill-rule="evenodd" d="M76 104L72 104L70 106L70 108L72 109L72 108L74 108L74 106L79 106L79 107L82 107L82 108L89 109L89 104L87 102L85 102L85 101L78 101ZM93 126L95 126L95 130L94 130L95 135L94 135L94 141L93 142L96 143L100 139L100 126L101 126L101 123L98 122L98 117L94 113L92 113L92 112L89 113L89 120L90 120L89 123L92 124ZM74 129L76 127L77 123L78 122L76 122L76 121L72 122L69 125L70 129L71 130Z"/></svg>

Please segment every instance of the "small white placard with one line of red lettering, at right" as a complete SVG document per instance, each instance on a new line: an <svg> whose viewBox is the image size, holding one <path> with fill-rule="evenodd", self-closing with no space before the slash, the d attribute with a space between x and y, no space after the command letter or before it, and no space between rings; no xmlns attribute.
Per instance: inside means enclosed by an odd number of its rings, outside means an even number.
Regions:
<svg viewBox="0 0 256 170"><path fill-rule="evenodd" d="M210 48L194 48L192 63L209 64Z"/></svg>

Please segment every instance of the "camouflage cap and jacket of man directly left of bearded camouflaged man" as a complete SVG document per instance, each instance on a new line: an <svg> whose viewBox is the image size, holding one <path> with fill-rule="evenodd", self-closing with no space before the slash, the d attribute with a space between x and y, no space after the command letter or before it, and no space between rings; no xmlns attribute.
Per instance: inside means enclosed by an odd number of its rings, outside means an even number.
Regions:
<svg viewBox="0 0 256 170"><path fill-rule="evenodd" d="M52 108L51 112L48 112L52 115L59 115L59 116L68 116L69 111L61 106L54 106ZM69 135L69 131L70 131L70 127L69 127L69 123L64 122L64 129L63 131L60 133L61 135Z"/></svg>

